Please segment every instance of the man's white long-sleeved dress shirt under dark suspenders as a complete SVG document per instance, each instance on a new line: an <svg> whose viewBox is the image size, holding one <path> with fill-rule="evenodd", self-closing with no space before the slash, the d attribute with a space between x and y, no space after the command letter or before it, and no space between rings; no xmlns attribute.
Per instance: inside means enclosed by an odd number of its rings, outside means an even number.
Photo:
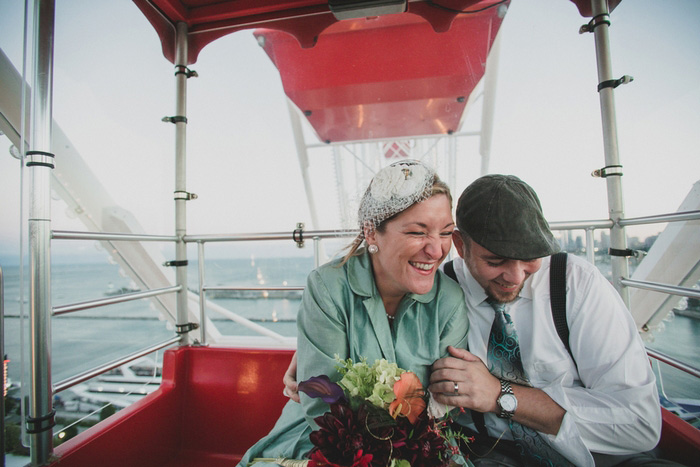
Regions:
<svg viewBox="0 0 700 467"><path fill-rule="evenodd" d="M619 294L598 269L569 255L566 268L569 343L559 338L549 300L550 259L508 304L520 342L525 374L566 414L557 435L543 434L579 466L593 466L589 451L630 454L653 449L661 433L656 380L634 321ZM469 351L486 362L494 311L464 261L454 261L469 316ZM578 365L578 368L577 368ZM489 434L511 438L508 422L485 414Z"/></svg>

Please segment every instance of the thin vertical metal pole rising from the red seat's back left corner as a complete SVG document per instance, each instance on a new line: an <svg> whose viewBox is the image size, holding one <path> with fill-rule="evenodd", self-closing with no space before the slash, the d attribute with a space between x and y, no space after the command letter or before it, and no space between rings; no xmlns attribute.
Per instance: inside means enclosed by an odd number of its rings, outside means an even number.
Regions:
<svg viewBox="0 0 700 467"><path fill-rule="evenodd" d="M177 24L175 50L175 278L182 288L177 293L177 324L187 324L187 79L183 73L187 59L187 24ZM187 334L182 334L182 344L187 344Z"/></svg>

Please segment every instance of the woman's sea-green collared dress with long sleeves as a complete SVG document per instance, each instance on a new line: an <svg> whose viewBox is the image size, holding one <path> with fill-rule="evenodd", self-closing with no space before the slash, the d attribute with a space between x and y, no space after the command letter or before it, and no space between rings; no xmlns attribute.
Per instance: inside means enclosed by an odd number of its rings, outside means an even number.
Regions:
<svg viewBox="0 0 700 467"><path fill-rule="evenodd" d="M321 266L309 275L297 317L297 380L328 375L339 379L335 355L369 364L384 358L413 371L428 386L430 366L447 355L447 346L466 348L467 310L462 290L442 271L430 292L406 295L389 323L372 275L369 255ZM270 433L251 447L239 466L255 458L303 459L313 448L313 419L328 404L301 394L289 401ZM256 464L261 466L262 464Z"/></svg>

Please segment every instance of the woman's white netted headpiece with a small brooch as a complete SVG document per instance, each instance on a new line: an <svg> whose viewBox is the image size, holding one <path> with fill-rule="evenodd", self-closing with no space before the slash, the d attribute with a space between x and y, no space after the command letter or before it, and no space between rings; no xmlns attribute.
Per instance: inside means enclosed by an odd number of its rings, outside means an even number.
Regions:
<svg viewBox="0 0 700 467"><path fill-rule="evenodd" d="M391 216L430 198L435 172L416 160L401 160L377 172L367 187L358 221L360 230L367 224L376 229Z"/></svg>

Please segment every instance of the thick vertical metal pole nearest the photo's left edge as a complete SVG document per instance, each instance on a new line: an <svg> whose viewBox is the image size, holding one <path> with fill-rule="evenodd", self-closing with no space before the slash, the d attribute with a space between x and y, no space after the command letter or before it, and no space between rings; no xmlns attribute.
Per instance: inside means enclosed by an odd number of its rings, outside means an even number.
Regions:
<svg viewBox="0 0 700 467"><path fill-rule="evenodd" d="M29 410L31 465L45 464L53 450L54 412L51 387L51 122L53 113L54 0L34 2L33 84L29 205L29 322L31 378Z"/></svg>

